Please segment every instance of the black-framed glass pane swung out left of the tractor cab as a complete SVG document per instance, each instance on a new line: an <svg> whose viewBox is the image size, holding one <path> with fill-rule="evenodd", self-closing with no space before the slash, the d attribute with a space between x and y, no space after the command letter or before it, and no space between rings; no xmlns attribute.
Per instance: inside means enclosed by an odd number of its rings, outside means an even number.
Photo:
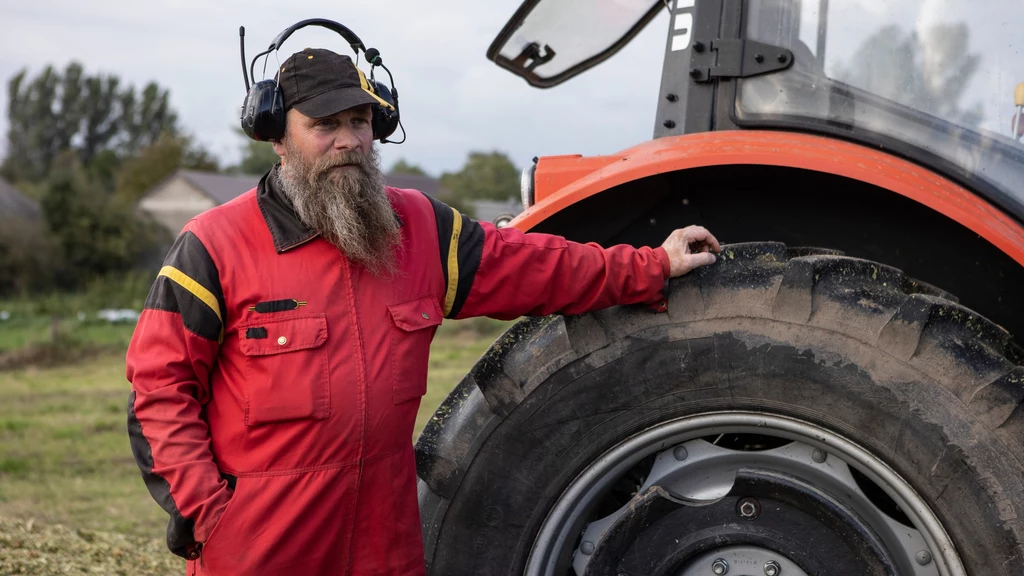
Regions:
<svg viewBox="0 0 1024 576"><path fill-rule="evenodd" d="M613 54L664 9L665 0L526 0L487 57L553 86Z"/></svg>

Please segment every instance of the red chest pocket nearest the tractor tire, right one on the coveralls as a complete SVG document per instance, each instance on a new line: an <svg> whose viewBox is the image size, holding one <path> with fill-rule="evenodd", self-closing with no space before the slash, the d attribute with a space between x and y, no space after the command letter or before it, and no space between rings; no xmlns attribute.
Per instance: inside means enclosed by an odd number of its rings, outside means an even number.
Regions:
<svg viewBox="0 0 1024 576"><path fill-rule="evenodd" d="M388 305L391 316L391 374L394 403L427 393L430 341L441 324L441 306L433 296Z"/></svg>

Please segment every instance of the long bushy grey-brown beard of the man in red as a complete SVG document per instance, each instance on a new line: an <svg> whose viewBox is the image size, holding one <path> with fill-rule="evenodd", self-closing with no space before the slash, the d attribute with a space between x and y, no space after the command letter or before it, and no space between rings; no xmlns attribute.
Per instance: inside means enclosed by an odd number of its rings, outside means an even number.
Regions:
<svg viewBox="0 0 1024 576"><path fill-rule="evenodd" d="M299 218L374 276L393 276L401 234L384 190L377 149L367 155L346 152L309 162L290 142L285 146L288 156L276 171L278 183ZM329 172L348 163L358 169Z"/></svg>

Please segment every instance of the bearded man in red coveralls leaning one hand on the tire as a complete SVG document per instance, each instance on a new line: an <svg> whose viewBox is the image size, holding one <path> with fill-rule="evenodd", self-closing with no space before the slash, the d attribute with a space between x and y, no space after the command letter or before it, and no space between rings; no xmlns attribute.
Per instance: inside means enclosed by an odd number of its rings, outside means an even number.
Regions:
<svg viewBox="0 0 1024 576"><path fill-rule="evenodd" d="M442 318L664 308L720 248L602 249L386 188L352 60L282 70L281 163L187 223L146 300L132 450L189 574L422 574L412 436Z"/></svg>

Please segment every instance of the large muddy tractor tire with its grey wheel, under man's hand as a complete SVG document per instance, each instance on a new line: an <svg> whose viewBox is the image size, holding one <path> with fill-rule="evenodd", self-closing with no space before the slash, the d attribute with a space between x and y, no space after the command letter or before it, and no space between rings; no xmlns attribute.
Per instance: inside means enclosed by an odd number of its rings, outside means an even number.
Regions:
<svg viewBox="0 0 1024 576"><path fill-rule="evenodd" d="M523 320L441 404L416 445L428 574L1024 574L1005 330L770 242L667 295Z"/></svg>

